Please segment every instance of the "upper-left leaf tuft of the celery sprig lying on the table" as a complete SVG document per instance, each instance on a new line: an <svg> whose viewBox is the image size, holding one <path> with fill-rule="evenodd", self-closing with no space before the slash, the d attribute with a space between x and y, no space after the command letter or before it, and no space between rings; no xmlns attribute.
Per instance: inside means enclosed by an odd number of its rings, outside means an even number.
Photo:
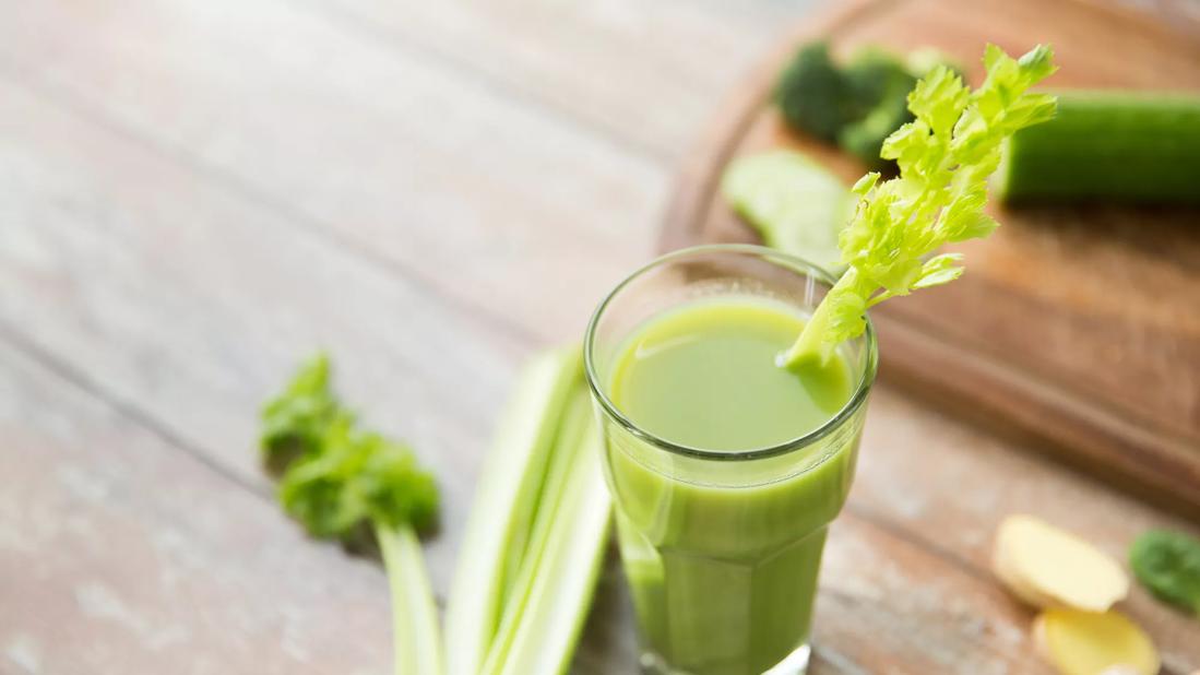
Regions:
<svg viewBox="0 0 1200 675"><path fill-rule="evenodd" d="M322 352L305 362L287 388L263 406L263 462L278 473L316 450L337 414L337 400L329 389L329 357Z"/></svg>

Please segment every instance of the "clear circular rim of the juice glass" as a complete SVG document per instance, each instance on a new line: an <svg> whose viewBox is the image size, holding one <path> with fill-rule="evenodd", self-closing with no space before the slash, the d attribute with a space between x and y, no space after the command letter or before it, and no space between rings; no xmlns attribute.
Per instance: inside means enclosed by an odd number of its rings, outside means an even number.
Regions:
<svg viewBox="0 0 1200 675"><path fill-rule="evenodd" d="M690 458L698 458L706 460L719 460L719 461L745 461L766 459L778 455L784 455L790 452L794 452L799 448L811 446L812 443L824 438L838 429L841 423L848 419L863 402L866 401L868 394L870 394L871 387L875 383L875 376L878 370L878 344L875 336L875 325L871 323L871 317L869 313L864 313L864 319L866 321L866 329L863 331L863 339L866 341L866 359L860 370L860 377L854 387L854 393L846 400L846 404L829 419L823 422L816 429L808 431L796 438L790 438L782 443L776 443L773 446L766 446L760 448L749 448L745 450L714 450L698 448L695 446L686 446L683 443L676 443L661 438L649 431L638 426L634 420L629 419L612 400L608 394L604 392L600 387L599 377L595 370L595 359L593 358L593 351L595 346L595 334L596 327L600 324L600 317L604 316L605 310L613 301L613 299L623 291L626 286L643 276L644 274L662 267L666 263L678 261L680 258L694 257L704 253L737 253L737 255L754 255L760 258L766 258L768 262L780 262L784 263L780 267L790 268L794 271L812 276L821 281L822 283L833 287L836 283L836 279L829 274L827 270L817 264L814 264L799 256L792 253L786 253L768 246L758 246L755 244L703 244L698 246L689 246L686 249L679 249L670 253L665 253L654 258L649 263L637 268L631 274L620 280L617 286L612 288L605 297L604 300L596 305L595 311L592 312L592 318L588 319L587 333L583 336L583 372L584 380L588 382L588 388L592 389L593 398L600 404L605 414L616 420L622 428L635 437L654 446L656 448Z"/></svg>

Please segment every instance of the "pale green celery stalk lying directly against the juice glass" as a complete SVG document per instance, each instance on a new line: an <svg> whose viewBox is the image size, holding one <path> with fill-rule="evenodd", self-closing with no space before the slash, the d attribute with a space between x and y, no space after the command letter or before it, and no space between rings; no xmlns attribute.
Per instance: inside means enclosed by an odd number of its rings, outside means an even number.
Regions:
<svg viewBox="0 0 1200 675"><path fill-rule="evenodd" d="M607 540L599 430L580 384L563 420L529 555L504 608L484 675L562 673L590 607Z"/></svg>

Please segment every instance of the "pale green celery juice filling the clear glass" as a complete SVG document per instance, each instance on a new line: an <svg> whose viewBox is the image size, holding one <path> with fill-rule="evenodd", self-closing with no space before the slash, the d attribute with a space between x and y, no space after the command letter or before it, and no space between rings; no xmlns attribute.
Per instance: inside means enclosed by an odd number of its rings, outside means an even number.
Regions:
<svg viewBox="0 0 1200 675"><path fill-rule="evenodd" d="M642 639L673 671L757 675L808 643L862 408L802 440L836 417L858 384L844 354L800 375L775 365L804 319L762 297L695 300L635 329L611 362L617 410L680 447L664 452L606 428Z"/></svg>

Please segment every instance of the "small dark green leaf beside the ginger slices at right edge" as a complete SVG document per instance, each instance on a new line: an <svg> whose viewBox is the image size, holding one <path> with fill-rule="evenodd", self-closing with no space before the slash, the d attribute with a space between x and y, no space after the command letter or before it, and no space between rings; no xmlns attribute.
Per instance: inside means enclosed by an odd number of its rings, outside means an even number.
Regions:
<svg viewBox="0 0 1200 675"><path fill-rule="evenodd" d="M1151 530L1129 546L1129 566L1156 597L1200 616L1200 539Z"/></svg>

